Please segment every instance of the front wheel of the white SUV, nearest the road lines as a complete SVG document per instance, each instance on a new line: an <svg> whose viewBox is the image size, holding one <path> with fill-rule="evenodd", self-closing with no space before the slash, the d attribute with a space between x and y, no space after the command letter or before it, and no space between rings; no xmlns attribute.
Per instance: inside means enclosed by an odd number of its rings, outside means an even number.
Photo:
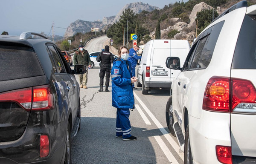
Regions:
<svg viewBox="0 0 256 164"><path fill-rule="evenodd" d="M173 128L173 123L174 123L174 120L173 120L173 109L172 109L172 96L170 96L166 104L166 124L171 134L176 137L176 134Z"/></svg>

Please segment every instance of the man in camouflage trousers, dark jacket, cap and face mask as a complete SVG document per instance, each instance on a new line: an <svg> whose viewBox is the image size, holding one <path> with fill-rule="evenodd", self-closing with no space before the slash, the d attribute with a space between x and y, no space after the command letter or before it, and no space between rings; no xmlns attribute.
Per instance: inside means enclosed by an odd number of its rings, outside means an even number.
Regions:
<svg viewBox="0 0 256 164"><path fill-rule="evenodd" d="M90 55L86 49L84 49L84 46L79 45L78 50L76 50L76 53L74 55L74 65L76 64L82 64L85 65L86 68L90 68L92 66ZM84 74L79 75L79 82L80 82L80 88L87 89L87 74L88 71Z"/></svg>

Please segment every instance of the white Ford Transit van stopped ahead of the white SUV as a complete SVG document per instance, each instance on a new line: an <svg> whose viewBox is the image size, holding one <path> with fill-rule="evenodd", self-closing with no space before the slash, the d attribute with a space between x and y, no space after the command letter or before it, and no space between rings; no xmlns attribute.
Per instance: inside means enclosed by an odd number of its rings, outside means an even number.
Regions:
<svg viewBox="0 0 256 164"><path fill-rule="evenodd" d="M189 52L187 40L150 40L143 48L142 58L137 69L137 86L142 86L143 95L149 89L170 89L172 79L180 70L169 69L167 58L176 58L182 67ZM168 63L169 64L169 63Z"/></svg>

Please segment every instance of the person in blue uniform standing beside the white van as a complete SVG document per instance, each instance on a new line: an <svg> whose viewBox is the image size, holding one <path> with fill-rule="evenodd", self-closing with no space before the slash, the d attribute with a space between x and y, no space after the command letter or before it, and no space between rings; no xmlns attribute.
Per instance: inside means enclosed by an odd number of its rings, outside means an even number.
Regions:
<svg viewBox="0 0 256 164"><path fill-rule="evenodd" d="M131 62L131 73L132 76L135 77L135 67L137 66L138 60L141 59L141 56L137 55L137 52L139 52L140 46L134 45L134 48L131 48L129 51L129 58L128 61ZM132 84L133 89L137 89L134 87L134 83Z"/></svg>

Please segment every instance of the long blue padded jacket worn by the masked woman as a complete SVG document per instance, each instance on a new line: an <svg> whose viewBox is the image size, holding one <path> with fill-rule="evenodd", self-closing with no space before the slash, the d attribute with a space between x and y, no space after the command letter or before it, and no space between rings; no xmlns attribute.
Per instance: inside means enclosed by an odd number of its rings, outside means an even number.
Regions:
<svg viewBox="0 0 256 164"><path fill-rule="evenodd" d="M134 95L131 85L131 63L121 58L114 60L111 70L111 79L112 106L116 108L134 109Z"/></svg>

